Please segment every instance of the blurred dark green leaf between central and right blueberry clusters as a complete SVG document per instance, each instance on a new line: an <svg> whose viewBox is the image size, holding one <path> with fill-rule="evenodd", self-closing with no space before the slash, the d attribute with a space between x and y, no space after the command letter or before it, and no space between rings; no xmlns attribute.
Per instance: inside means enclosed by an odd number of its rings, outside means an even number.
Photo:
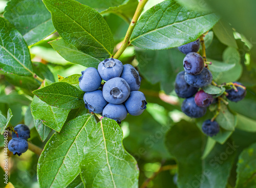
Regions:
<svg viewBox="0 0 256 188"><path fill-rule="evenodd" d="M150 83L161 83L161 89L170 93L174 89L176 75L183 71L183 53L178 49L136 50L138 68L143 77Z"/></svg>

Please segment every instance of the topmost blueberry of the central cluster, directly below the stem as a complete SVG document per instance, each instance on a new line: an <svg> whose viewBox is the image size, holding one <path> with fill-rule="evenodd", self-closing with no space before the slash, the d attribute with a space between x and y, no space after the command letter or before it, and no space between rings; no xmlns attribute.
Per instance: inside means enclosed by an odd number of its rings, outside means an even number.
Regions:
<svg viewBox="0 0 256 188"><path fill-rule="evenodd" d="M123 70L123 64L117 59L105 59L98 65L99 75L105 81L114 77L120 77Z"/></svg>

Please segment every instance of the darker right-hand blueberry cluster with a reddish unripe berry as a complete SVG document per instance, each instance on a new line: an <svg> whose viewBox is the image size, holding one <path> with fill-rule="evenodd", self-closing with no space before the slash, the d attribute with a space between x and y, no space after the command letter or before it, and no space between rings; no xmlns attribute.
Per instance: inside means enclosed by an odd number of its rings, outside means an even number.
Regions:
<svg viewBox="0 0 256 188"><path fill-rule="evenodd" d="M214 95L205 93L200 89L211 84L212 74L204 66L203 58L197 53L199 48L199 39L178 47L186 56L183 60L185 71L178 73L175 80L175 92L179 97L185 98L181 110L192 118L203 117L207 107L211 103L216 102ZM242 100L246 95L246 90L240 87L242 86L240 83L233 83L233 85L238 87L226 90L227 98L236 102ZM202 125L202 130L206 135L212 137L217 135L220 126L214 120L206 120Z"/></svg>

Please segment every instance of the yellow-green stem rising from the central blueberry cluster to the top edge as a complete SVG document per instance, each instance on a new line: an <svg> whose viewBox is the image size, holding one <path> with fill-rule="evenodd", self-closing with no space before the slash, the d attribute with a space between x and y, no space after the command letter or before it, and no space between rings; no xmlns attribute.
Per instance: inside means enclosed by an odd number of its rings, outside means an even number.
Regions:
<svg viewBox="0 0 256 188"><path fill-rule="evenodd" d="M136 9L136 11L134 13L133 19L132 19L132 21L131 21L131 23L129 25L129 28L128 28L127 32L126 32L126 35L125 35L125 37L123 39L122 45L118 49L118 51L116 52L116 54L114 56L115 59L118 59L122 55L123 51L127 48L127 46L129 46L131 35L133 33L135 25L136 25L136 23L137 23L137 21L138 21L138 19L140 17L140 14L143 11L143 8L144 8L144 6L145 6L147 1L148 0L140 0L139 4L137 6L137 9Z"/></svg>

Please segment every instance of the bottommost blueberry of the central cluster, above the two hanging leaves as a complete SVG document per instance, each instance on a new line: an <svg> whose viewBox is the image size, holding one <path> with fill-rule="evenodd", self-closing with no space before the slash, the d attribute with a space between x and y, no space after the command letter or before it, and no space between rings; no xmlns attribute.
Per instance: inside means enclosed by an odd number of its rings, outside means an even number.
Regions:
<svg viewBox="0 0 256 188"><path fill-rule="evenodd" d="M103 109L102 116L104 118L111 118L117 123L121 123L127 116L126 108L123 104L107 104Z"/></svg>

